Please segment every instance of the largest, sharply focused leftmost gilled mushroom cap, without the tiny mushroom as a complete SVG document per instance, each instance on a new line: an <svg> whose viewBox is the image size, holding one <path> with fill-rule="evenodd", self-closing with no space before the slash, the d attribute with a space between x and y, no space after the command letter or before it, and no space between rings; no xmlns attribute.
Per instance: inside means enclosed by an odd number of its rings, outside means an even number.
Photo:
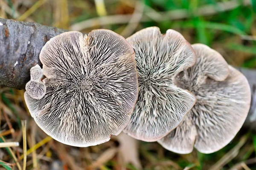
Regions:
<svg viewBox="0 0 256 170"><path fill-rule="evenodd" d="M109 141L130 121L138 97L134 50L104 29L65 32L40 53L47 92L41 100L25 93L35 122L57 141L88 147Z"/></svg>

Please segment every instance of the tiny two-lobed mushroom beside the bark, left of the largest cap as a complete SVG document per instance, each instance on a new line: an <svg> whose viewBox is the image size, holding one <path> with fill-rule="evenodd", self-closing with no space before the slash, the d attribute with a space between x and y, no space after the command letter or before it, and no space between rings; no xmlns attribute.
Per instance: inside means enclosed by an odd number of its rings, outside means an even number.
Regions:
<svg viewBox="0 0 256 170"><path fill-rule="evenodd" d="M41 81L43 70L37 64L30 69L30 81L26 84L26 92L34 99L41 99L46 93L46 87Z"/></svg>

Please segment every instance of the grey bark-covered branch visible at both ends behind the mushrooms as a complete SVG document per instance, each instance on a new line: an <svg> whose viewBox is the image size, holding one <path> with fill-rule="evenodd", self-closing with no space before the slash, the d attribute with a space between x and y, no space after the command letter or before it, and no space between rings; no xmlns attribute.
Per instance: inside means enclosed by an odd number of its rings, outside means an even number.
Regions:
<svg viewBox="0 0 256 170"><path fill-rule="evenodd" d="M33 22L0 18L0 86L25 89L30 79L29 70L39 64L39 53L52 37L66 32L55 27ZM248 79L252 102L244 126L256 130L256 70L239 69Z"/></svg>

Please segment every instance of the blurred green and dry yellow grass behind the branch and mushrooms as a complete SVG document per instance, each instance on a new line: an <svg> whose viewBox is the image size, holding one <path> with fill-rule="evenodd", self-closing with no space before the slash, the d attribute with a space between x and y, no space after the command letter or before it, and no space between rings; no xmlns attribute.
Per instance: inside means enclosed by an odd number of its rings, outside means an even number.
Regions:
<svg viewBox="0 0 256 170"><path fill-rule="evenodd" d="M144 6L143 16L136 27L127 27L127 16L133 13L136 4ZM148 26L158 26L162 32L175 29L190 43L207 44L220 52L228 63L247 68L256 68L255 13L255 0L143 0L140 3L137 0L0 0L0 17L35 21L63 29L71 29L74 24L92 19L91 25L80 27L85 33L102 28L122 34L125 28L132 28L125 32L128 37ZM122 15L127 22L114 20L105 25L99 22L98 17L111 19L116 15ZM53 166L64 170L120 169L117 139L87 148L60 144L34 123L24 103L23 92L0 88L0 134L3 136L0 142L20 143L19 147L0 150L0 166L6 170L20 169L24 164L27 170L48 170ZM26 128L22 128L22 120L26 120ZM230 144L212 154L194 150L191 154L180 155L165 150L157 142L139 141L138 148L145 170L256 169L256 133L248 129L241 129ZM104 156L106 153L111 153L111 156ZM137 170L132 163L122 167Z"/></svg>

